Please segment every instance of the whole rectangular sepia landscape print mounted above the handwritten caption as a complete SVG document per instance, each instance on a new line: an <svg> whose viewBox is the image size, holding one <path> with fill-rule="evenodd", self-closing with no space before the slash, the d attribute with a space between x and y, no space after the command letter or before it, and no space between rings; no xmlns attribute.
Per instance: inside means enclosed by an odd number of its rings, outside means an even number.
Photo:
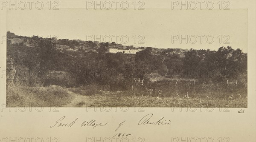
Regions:
<svg viewBox="0 0 256 142"><path fill-rule="evenodd" d="M247 108L247 9L39 12L7 10L7 104Z"/></svg>

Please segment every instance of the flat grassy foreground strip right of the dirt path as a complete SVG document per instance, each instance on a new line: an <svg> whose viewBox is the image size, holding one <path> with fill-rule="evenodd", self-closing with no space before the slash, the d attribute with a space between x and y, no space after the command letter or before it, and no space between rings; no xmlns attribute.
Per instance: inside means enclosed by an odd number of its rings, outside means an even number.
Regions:
<svg viewBox="0 0 256 142"><path fill-rule="evenodd" d="M100 91L94 96L79 98L75 107L229 107L247 108L247 98L213 99L189 97L127 96L125 92ZM82 96L82 95L81 95Z"/></svg>

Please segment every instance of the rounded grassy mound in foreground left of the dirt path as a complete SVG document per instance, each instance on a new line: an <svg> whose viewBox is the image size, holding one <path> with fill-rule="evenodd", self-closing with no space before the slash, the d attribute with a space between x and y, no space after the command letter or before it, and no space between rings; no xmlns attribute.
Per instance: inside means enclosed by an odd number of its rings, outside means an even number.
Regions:
<svg viewBox="0 0 256 142"><path fill-rule="evenodd" d="M6 103L11 106L24 104L32 107L61 107L72 99L67 88L61 86L13 86L6 90Z"/></svg>

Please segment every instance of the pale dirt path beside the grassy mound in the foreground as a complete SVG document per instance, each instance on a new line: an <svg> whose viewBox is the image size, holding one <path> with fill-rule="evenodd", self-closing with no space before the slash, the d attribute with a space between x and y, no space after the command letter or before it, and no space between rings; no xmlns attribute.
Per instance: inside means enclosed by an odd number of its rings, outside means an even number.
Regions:
<svg viewBox="0 0 256 142"><path fill-rule="evenodd" d="M89 96L83 96L80 94L73 93L71 91L67 91L68 94L73 98L70 102L66 105L63 105L64 108L70 107L86 107L86 105L90 102Z"/></svg>

